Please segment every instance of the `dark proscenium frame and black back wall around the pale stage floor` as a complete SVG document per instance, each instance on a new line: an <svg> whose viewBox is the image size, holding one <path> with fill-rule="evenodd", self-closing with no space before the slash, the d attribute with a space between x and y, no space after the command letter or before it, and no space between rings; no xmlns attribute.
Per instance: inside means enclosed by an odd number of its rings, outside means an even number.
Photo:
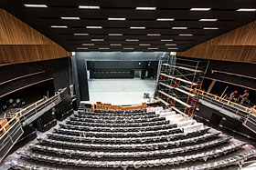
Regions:
<svg viewBox="0 0 256 170"><path fill-rule="evenodd" d="M79 82L79 86L76 86L77 94L80 91L80 100L88 101L88 74L87 70L91 69L91 77L96 78L131 78L133 77L133 71L139 68L139 70L144 70L141 68L141 65L148 65L148 62L155 63L158 62L161 56L164 53L155 52L155 53L142 53L142 52L133 52L133 53L99 53L99 52L78 52L75 56L72 57L73 68L77 68L77 77L75 77L76 82ZM127 62L127 63L126 63ZM140 66L138 64L141 63ZM96 67L95 67L96 65ZM129 66L130 65L130 66ZM148 65L149 69L152 69L152 65ZM143 67L143 68L144 68ZM101 72L101 74L94 74L94 71ZM128 70L128 71L127 71ZM133 71L131 71L133 70ZM103 73L102 73L103 72ZM106 72L119 72L120 74L111 75L111 73ZM121 72L130 72L122 73ZM154 72L154 71L152 71Z"/></svg>

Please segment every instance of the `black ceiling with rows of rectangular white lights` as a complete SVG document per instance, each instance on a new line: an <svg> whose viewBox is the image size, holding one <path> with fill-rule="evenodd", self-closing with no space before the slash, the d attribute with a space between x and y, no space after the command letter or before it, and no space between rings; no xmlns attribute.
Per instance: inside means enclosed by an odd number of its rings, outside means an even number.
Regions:
<svg viewBox="0 0 256 170"><path fill-rule="evenodd" d="M237 11L240 8L256 8L256 0L1 0L0 4L6 11L16 15L43 35L47 35L69 52L185 51L256 19L255 11ZM79 5L100 6L100 9L81 9ZM156 8L136 10L136 7ZM191 11L191 8L211 9ZM80 19L65 20L60 17L80 17ZM125 18L125 20L110 21L108 18ZM156 21L157 18L173 18L174 21ZM203 22L199 19L218 20ZM68 28L52 28L51 25L65 25ZM86 26L102 28L86 28ZM145 29L130 27L145 27ZM187 29L172 29L172 27L187 27ZM219 29L204 29L204 27ZM127 41L127 39L138 41Z"/></svg>

